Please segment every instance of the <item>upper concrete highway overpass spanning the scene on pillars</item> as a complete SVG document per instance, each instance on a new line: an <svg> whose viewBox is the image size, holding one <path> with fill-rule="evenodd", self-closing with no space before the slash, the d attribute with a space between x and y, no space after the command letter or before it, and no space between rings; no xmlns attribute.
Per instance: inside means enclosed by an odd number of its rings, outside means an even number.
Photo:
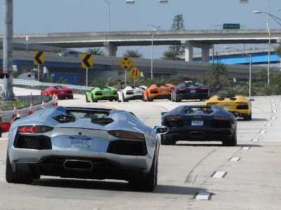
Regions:
<svg viewBox="0 0 281 210"><path fill-rule="evenodd" d="M280 42L281 30L271 29L271 43ZM185 61L192 61L193 48L202 48L202 62L209 62L209 49L216 44L268 43L267 29L106 31L48 34L14 34L15 43L48 45L57 48L105 47L105 55L116 56L118 46L185 45ZM0 36L0 41L3 36Z"/></svg>

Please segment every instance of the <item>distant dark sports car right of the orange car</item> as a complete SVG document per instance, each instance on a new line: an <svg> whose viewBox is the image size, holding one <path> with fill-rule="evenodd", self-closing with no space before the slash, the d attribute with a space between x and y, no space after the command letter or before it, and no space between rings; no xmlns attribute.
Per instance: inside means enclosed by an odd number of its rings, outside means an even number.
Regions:
<svg viewBox="0 0 281 210"><path fill-rule="evenodd" d="M171 92L172 102L181 102L182 99L209 99L209 87L202 83L192 83L185 81L176 86Z"/></svg>

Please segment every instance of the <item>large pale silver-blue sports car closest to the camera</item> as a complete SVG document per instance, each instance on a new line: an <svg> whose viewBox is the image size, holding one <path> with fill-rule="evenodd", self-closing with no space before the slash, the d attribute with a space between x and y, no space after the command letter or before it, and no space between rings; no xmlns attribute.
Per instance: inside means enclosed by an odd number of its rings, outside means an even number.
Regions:
<svg viewBox="0 0 281 210"><path fill-rule="evenodd" d="M15 118L8 135L6 181L32 183L41 175L119 179L152 191L157 185L159 138L133 113L51 106Z"/></svg>

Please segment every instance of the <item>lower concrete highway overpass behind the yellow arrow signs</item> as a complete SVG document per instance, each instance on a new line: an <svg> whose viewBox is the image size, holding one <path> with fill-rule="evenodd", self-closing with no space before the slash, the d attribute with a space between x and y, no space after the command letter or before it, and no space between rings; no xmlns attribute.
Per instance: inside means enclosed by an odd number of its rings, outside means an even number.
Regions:
<svg viewBox="0 0 281 210"><path fill-rule="evenodd" d="M80 57L59 57L55 53L45 52L44 65L41 65L41 73L47 69L49 73L79 73L79 85L84 85L86 79L86 70L81 68ZM3 53L0 52L0 65L3 63ZM119 61L122 57L114 56L93 56L93 67L89 69L89 80L94 80L99 77L117 78L117 71L124 71ZM136 66L146 78L150 77L150 59L131 58L133 66ZM18 66L18 69L36 69L34 65L34 52L13 52L13 64ZM155 59L153 61L153 74L155 76L166 74L172 77L176 76L207 76L210 63L200 62L183 62ZM131 66L131 67L133 67ZM252 73L259 69L258 66L252 66ZM249 78L249 66L247 65L228 65L228 75L230 78L247 79Z"/></svg>

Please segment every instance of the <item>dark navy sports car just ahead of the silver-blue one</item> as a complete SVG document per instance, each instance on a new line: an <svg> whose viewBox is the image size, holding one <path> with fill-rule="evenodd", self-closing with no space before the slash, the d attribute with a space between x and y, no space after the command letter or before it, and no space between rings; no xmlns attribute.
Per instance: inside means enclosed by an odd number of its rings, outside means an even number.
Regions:
<svg viewBox="0 0 281 210"><path fill-rule="evenodd" d="M235 116L220 106L178 106L162 113L162 125L169 132L161 134L161 144L176 141L222 141L223 146L237 144Z"/></svg>

